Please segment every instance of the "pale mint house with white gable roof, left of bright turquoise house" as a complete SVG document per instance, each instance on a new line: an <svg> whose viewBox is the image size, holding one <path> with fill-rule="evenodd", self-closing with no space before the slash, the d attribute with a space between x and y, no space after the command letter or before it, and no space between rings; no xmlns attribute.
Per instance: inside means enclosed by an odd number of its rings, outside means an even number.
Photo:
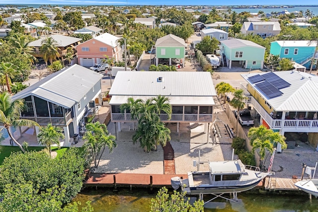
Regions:
<svg viewBox="0 0 318 212"><path fill-rule="evenodd" d="M220 41L223 66L244 69L263 69L265 47L242 39Z"/></svg>

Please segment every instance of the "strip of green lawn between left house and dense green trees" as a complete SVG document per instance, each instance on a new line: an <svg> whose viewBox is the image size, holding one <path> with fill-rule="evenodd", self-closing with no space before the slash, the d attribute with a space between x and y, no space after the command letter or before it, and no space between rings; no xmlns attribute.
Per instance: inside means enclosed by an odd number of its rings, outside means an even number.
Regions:
<svg viewBox="0 0 318 212"><path fill-rule="evenodd" d="M44 149L44 146L29 146L29 151L41 151ZM58 149L56 146L52 146L52 151L56 151L58 153L57 157L59 155L62 155L69 147L61 147ZM82 151L82 148L79 148ZM10 156L11 152L18 152L21 151L21 149L18 146L1 146L0 145L0 165L2 164L5 157Z"/></svg>

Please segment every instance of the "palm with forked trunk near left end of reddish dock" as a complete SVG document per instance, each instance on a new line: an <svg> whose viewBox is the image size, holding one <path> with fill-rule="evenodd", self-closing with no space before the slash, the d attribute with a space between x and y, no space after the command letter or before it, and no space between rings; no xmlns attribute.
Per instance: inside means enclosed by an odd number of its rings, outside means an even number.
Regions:
<svg viewBox="0 0 318 212"><path fill-rule="evenodd" d="M85 140L83 146L91 154L94 167L97 168L106 146L109 149L109 153L117 146L116 137L108 133L105 124L100 124L99 122L89 123L85 127L87 131L83 136ZM97 159L99 153L100 155Z"/></svg>

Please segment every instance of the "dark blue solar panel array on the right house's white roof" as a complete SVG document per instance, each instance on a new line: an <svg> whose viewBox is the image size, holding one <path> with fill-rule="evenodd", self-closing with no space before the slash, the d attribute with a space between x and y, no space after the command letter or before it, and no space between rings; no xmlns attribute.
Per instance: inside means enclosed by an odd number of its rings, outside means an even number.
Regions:
<svg viewBox="0 0 318 212"><path fill-rule="evenodd" d="M255 84L255 86L268 98L282 95L283 92L281 92L279 89L291 85L273 72L265 73L262 75L256 74L248 77L248 80L252 83L258 82L257 84Z"/></svg>

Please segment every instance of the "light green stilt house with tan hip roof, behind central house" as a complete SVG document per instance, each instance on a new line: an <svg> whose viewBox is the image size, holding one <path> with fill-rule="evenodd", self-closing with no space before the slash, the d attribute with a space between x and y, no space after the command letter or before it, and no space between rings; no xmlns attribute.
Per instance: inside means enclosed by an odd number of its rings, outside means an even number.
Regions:
<svg viewBox="0 0 318 212"><path fill-rule="evenodd" d="M182 38L169 34L156 41L156 65L171 66L172 62L179 61L184 67L186 43Z"/></svg>

